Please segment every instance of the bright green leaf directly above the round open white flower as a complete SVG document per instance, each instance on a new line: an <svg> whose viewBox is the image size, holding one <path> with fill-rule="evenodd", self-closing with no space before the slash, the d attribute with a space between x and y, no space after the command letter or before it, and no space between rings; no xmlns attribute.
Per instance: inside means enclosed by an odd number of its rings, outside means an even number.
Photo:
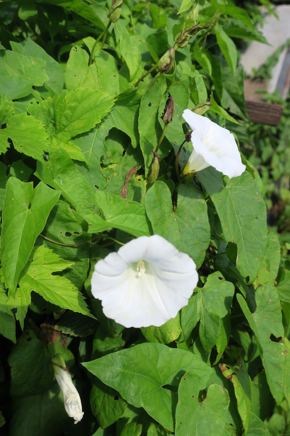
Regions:
<svg viewBox="0 0 290 436"><path fill-rule="evenodd" d="M104 191L96 191L95 204L101 209L101 215L95 213L84 215L90 233L119 228L136 237L151 235L150 222L143 204Z"/></svg>

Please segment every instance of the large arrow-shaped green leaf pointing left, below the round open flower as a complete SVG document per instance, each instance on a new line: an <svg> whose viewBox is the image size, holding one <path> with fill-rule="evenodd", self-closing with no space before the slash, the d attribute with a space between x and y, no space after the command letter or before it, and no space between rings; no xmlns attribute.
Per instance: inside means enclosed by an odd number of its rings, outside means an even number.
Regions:
<svg viewBox="0 0 290 436"><path fill-rule="evenodd" d="M153 343L135 345L83 365L120 392L130 404L143 407L171 431L174 429L172 409L175 409L177 395L162 386L177 386L189 369L202 378L204 384L210 371L204 362L187 351Z"/></svg>

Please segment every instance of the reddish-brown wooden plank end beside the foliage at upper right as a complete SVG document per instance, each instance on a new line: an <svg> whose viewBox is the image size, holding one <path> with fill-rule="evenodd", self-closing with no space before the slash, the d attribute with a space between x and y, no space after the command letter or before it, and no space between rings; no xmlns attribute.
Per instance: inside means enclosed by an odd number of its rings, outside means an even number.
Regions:
<svg viewBox="0 0 290 436"><path fill-rule="evenodd" d="M281 105L252 99L246 99L246 108L253 123L269 124L270 126L278 126L283 113Z"/></svg>

